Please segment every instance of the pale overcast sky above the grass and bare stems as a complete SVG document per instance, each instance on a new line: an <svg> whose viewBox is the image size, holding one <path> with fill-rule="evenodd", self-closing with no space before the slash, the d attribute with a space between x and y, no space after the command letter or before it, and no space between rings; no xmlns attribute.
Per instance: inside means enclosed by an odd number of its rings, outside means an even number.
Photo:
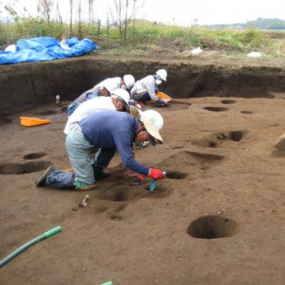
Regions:
<svg viewBox="0 0 285 285"><path fill-rule="evenodd" d="M53 0L56 3L56 0ZM73 0L76 2L78 0ZM9 2L23 4L31 16L36 16L38 0L0 0L1 9ZM133 2L133 1L131 1ZM257 18L285 20L285 0L137 0L136 18L165 24L190 26L197 24L234 24L253 21ZM61 16L69 20L69 0L58 0ZM113 0L94 0L95 19L105 21L108 6ZM88 0L81 0L83 19L88 19Z"/></svg>

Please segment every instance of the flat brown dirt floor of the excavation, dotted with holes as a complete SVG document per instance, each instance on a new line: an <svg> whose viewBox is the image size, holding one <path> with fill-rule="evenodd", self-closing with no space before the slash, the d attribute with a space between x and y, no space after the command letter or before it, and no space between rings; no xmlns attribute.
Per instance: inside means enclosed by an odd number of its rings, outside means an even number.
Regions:
<svg viewBox="0 0 285 285"><path fill-rule="evenodd" d="M171 95L171 94L169 94ZM43 232L62 232L1 268L0 284L284 284L285 93L173 99L155 108L164 145L135 147L167 177L130 186L115 155L96 190L37 188L51 162L70 168L67 101L0 125L0 259ZM27 128L20 116L51 120ZM87 207L78 207L85 195Z"/></svg>

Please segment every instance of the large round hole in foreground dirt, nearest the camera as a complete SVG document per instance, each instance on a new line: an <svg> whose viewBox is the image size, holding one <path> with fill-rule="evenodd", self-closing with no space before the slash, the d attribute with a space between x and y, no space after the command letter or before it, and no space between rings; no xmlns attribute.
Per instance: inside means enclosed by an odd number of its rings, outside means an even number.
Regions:
<svg viewBox="0 0 285 285"><path fill-rule="evenodd" d="M232 237L239 232L239 224L233 219L216 215L208 215L195 219L189 227L187 234L197 239L219 239Z"/></svg>

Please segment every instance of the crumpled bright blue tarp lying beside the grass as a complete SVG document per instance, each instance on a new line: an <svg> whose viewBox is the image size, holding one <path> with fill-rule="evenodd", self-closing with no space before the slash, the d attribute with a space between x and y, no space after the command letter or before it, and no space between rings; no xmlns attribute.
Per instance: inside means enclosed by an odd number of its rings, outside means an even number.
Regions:
<svg viewBox="0 0 285 285"><path fill-rule="evenodd" d="M98 46L88 38L79 41L78 38L69 38L66 41L68 48L61 48L61 43L54 38L41 36L39 38L21 39L16 44L16 51L0 51L0 64L21 63L31 61L51 61L56 58L81 56L98 49Z"/></svg>

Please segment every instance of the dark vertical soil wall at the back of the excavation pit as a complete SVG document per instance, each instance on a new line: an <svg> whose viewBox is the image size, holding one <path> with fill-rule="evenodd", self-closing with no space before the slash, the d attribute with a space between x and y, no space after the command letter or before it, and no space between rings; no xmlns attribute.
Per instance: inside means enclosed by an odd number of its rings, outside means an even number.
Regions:
<svg viewBox="0 0 285 285"><path fill-rule="evenodd" d="M105 78L131 73L138 80L158 68L168 71L167 82L160 90L172 98L257 98L285 91L285 69L279 67L81 56L0 66L0 110L32 108L55 100L56 95L74 100Z"/></svg>

